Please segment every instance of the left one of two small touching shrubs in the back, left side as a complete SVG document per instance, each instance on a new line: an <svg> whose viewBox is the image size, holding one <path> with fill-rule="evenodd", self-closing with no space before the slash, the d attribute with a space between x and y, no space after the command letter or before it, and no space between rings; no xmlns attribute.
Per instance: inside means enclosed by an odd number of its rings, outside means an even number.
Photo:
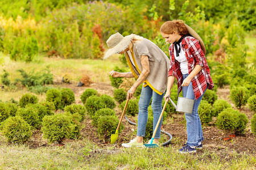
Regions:
<svg viewBox="0 0 256 170"><path fill-rule="evenodd" d="M52 88L46 92L46 101L52 102L55 109L59 109L61 104L61 91L56 88Z"/></svg>

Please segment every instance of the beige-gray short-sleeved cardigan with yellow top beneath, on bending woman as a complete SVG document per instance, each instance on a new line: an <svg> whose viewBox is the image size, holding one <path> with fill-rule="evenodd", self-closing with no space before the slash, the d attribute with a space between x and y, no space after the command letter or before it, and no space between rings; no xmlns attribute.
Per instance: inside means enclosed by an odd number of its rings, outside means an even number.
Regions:
<svg viewBox="0 0 256 170"><path fill-rule="evenodd" d="M133 50L131 50L131 54L133 56L135 66L131 64L127 53L125 53L125 56L135 78L138 78L142 71L141 56L148 56L150 73L147 75L143 86L145 87L148 85L156 93L162 95L167 88L170 59L158 46L144 38L141 41L133 43Z"/></svg>

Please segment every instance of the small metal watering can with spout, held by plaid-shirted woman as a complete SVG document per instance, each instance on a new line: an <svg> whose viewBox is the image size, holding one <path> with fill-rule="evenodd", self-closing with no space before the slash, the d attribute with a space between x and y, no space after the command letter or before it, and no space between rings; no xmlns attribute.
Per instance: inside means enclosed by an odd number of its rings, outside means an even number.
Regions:
<svg viewBox="0 0 256 170"><path fill-rule="evenodd" d="M177 112L184 112L184 113L192 113L193 105L195 103L195 100L188 99L186 97L179 97L178 95L179 95L179 89L178 89L178 94L177 94L177 99L178 99L177 100L177 105L169 97L169 100L171 101L172 105L174 105L176 111Z"/></svg>

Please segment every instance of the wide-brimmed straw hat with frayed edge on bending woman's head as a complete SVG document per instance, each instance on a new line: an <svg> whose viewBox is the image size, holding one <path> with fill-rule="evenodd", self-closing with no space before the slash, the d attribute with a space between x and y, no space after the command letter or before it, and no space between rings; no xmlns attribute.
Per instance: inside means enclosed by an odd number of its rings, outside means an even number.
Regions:
<svg viewBox="0 0 256 170"><path fill-rule="evenodd" d="M113 54L120 53L128 48L131 40L133 40L135 36L136 35L132 33L131 35L123 37L119 32L110 36L109 39L106 41L109 50L106 52L104 59L112 56Z"/></svg>

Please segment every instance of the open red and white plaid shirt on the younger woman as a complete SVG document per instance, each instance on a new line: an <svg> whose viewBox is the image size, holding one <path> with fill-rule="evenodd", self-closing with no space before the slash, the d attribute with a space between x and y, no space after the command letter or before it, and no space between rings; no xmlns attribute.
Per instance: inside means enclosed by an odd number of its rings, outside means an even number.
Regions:
<svg viewBox="0 0 256 170"><path fill-rule="evenodd" d="M181 48L185 52L187 61L188 61L188 74L194 69L196 65L200 65L203 69L191 80L193 85L193 91L198 99L201 95L204 94L205 89L212 89L214 87L212 78L210 77L210 69L207 65L207 61L204 56L204 52L201 49L199 41L194 37L185 37L181 40ZM177 88L181 86L183 82L183 76L180 71L180 63L174 57L174 44L171 44L169 47L170 52L170 70L168 76L175 76L177 79ZM181 88L178 93L181 92Z"/></svg>

